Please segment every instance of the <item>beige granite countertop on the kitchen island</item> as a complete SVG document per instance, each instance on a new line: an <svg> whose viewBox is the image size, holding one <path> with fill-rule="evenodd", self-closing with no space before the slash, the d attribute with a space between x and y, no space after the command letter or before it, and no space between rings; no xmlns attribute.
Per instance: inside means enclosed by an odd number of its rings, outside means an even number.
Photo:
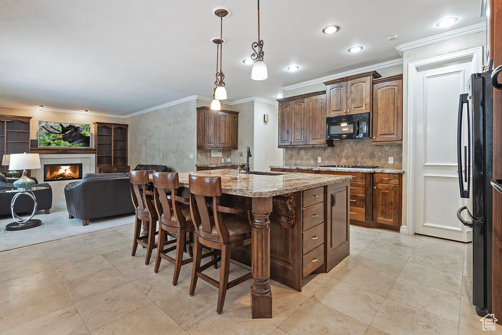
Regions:
<svg viewBox="0 0 502 335"><path fill-rule="evenodd" d="M221 177L223 193L264 198L275 195L303 191L320 186L350 180L351 176L326 174L302 174L288 172L267 172L273 176L237 173L234 169L206 170L193 172L192 175ZM178 173L180 186L188 187L188 172Z"/></svg>

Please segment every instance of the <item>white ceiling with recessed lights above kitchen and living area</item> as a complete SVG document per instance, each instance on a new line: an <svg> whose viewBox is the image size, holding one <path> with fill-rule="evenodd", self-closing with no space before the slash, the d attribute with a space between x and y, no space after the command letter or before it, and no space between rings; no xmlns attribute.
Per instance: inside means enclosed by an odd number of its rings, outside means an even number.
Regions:
<svg viewBox="0 0 502 335"><path fill-rule="evenodd" d="M128 115L212 96L217 6L231 11L223 19L229 100L273 100L281 87L394 60L400 44L483 22L477 0L262 0L269 78L253 81L242 60L258 38L255 0L0 0L0 105ZM435 26L452 16L455 25ZM332 24L340 31L321 32ZM349 54L355 45L364 50ZM300 70L287 71L292 64Z"/></svg>

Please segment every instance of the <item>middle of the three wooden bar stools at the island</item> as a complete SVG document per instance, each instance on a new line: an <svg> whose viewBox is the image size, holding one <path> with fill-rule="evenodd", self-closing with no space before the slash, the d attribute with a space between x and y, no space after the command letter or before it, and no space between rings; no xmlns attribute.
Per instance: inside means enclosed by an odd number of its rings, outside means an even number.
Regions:
<svg viewBox="0 0 502 335"><path fill-rule="evenodd" d="M173 285L178 284L181 267L191 263L193 257L183 260L183 251L188 245L188 253L193 256L191 242L193 242L193 232L195 227L190 215L189 198L180 196L180 182L177 172L154 172L154 199L155 209L159 216L159 245L176 243L175 246L161 250L157 248L157 258L155 260L155 272L159 272L161 259L168 260L175 266ZM168 196L168 194L170 194ZM186 204L184 204L185 202ZM176 234L176 240L166 243L168 233ZM169 234L170 236L173 236ZM189 239L187 240L187 234ZM176 250L176 258L168 256L167 253Z"/></svg>

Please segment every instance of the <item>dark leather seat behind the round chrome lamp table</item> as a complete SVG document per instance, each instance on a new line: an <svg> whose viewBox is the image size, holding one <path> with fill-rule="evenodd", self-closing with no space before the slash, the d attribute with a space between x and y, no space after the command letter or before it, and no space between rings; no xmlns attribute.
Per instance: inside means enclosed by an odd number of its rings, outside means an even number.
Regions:
<svg viewBox="0 0 502 335"><path fill-rule="evenodd" d="M12 184L19 178L7 178L2 173L0 173L0 190L15 188ZM46 214L49 214L49 210L52 207L52 189L47 183L39 184L35 177L34 179L37 184L35 186L49 186L48 189L33 191L35 198L37 199L38 210L45 210ZM11 202L12 198L16 193L0 193L0 215L12 215L11 212ZM33 200L26 195L21 195L14 205L14 211L18 214L28 213L33 210Z"/></svg>

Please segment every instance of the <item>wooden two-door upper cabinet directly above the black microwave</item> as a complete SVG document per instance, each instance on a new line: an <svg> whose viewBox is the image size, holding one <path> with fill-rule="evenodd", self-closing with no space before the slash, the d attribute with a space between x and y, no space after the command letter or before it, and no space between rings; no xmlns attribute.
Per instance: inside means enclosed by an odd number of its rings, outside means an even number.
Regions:
<svg viewBox="0 0 502 335"><path fill-rule="evenodd" d="M380 77L380 73L372 71L325 82L326 116L371 113L371 86Z"/></svg>

